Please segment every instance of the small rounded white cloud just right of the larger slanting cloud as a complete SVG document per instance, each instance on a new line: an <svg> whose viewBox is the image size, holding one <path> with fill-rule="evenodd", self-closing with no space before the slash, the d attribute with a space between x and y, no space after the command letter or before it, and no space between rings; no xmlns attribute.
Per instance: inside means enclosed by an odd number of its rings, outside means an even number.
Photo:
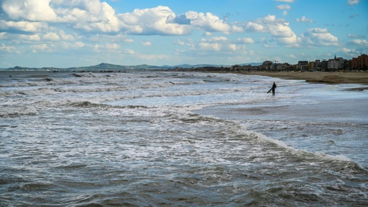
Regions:
<svg viewBox="0 0 368 207"><path fill-rule="evenodd" d="M308 28L307 31L302 34L302 39L307 45L338 45L338 38L329 33L326 28Z"/></svg>

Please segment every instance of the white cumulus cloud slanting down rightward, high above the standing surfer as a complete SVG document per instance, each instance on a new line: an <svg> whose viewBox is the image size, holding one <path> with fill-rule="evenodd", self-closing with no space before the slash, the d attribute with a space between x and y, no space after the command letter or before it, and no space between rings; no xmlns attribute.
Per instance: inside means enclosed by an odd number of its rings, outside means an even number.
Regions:
<svg viewBox="0 0 368 207"><path fill-rule="evenodd" d="M246 23L245 28L250 32L270 33L280 44L297 44L298 38L284 19L276 19L274 15L258 18Z"/></svg>

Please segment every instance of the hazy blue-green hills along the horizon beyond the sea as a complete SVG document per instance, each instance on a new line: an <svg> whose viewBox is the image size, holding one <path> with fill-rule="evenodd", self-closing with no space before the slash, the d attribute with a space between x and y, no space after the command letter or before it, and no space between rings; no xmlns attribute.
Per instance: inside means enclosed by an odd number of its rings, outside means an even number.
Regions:
<svg viewBox="0 0 368 207"><path fill-rule="evenodd" d="M251 62L251 63L242 63L238 65L259 65L261 62ZM139 69L168 69L168 68L192 68L192 67L229 67L231 65L218 65L218 64L178 64L178 65L148 65L148 64L139 64L139 65L118 65L118 64L110 64L110 63L100 63L97 65L91 66L81 66L81 67L9 67L9 68L2 68L7 70L51 70L51 71L120 71L120 70L139 70Z"/></svg>

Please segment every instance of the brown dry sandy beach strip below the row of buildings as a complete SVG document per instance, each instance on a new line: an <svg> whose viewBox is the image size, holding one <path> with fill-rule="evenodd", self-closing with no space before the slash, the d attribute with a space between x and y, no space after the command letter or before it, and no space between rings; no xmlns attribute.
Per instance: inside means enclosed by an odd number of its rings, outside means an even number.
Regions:
<svg viewBox="0 0 368 207"><path fill-rule="evenodd" d="M245 72L245 74L267 75L288 79L305 79L311 82L368 83L368 72Z"/></svg>

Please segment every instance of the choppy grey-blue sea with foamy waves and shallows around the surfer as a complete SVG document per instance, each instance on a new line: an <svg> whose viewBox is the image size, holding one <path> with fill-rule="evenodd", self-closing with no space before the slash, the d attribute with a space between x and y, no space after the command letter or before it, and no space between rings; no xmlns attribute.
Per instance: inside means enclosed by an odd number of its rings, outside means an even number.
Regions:
<svg viewBox="0 0 368 207"><path fill-rule="evenodd" d="M368 206L364 87L2 70L0 206Z"/></svg>

